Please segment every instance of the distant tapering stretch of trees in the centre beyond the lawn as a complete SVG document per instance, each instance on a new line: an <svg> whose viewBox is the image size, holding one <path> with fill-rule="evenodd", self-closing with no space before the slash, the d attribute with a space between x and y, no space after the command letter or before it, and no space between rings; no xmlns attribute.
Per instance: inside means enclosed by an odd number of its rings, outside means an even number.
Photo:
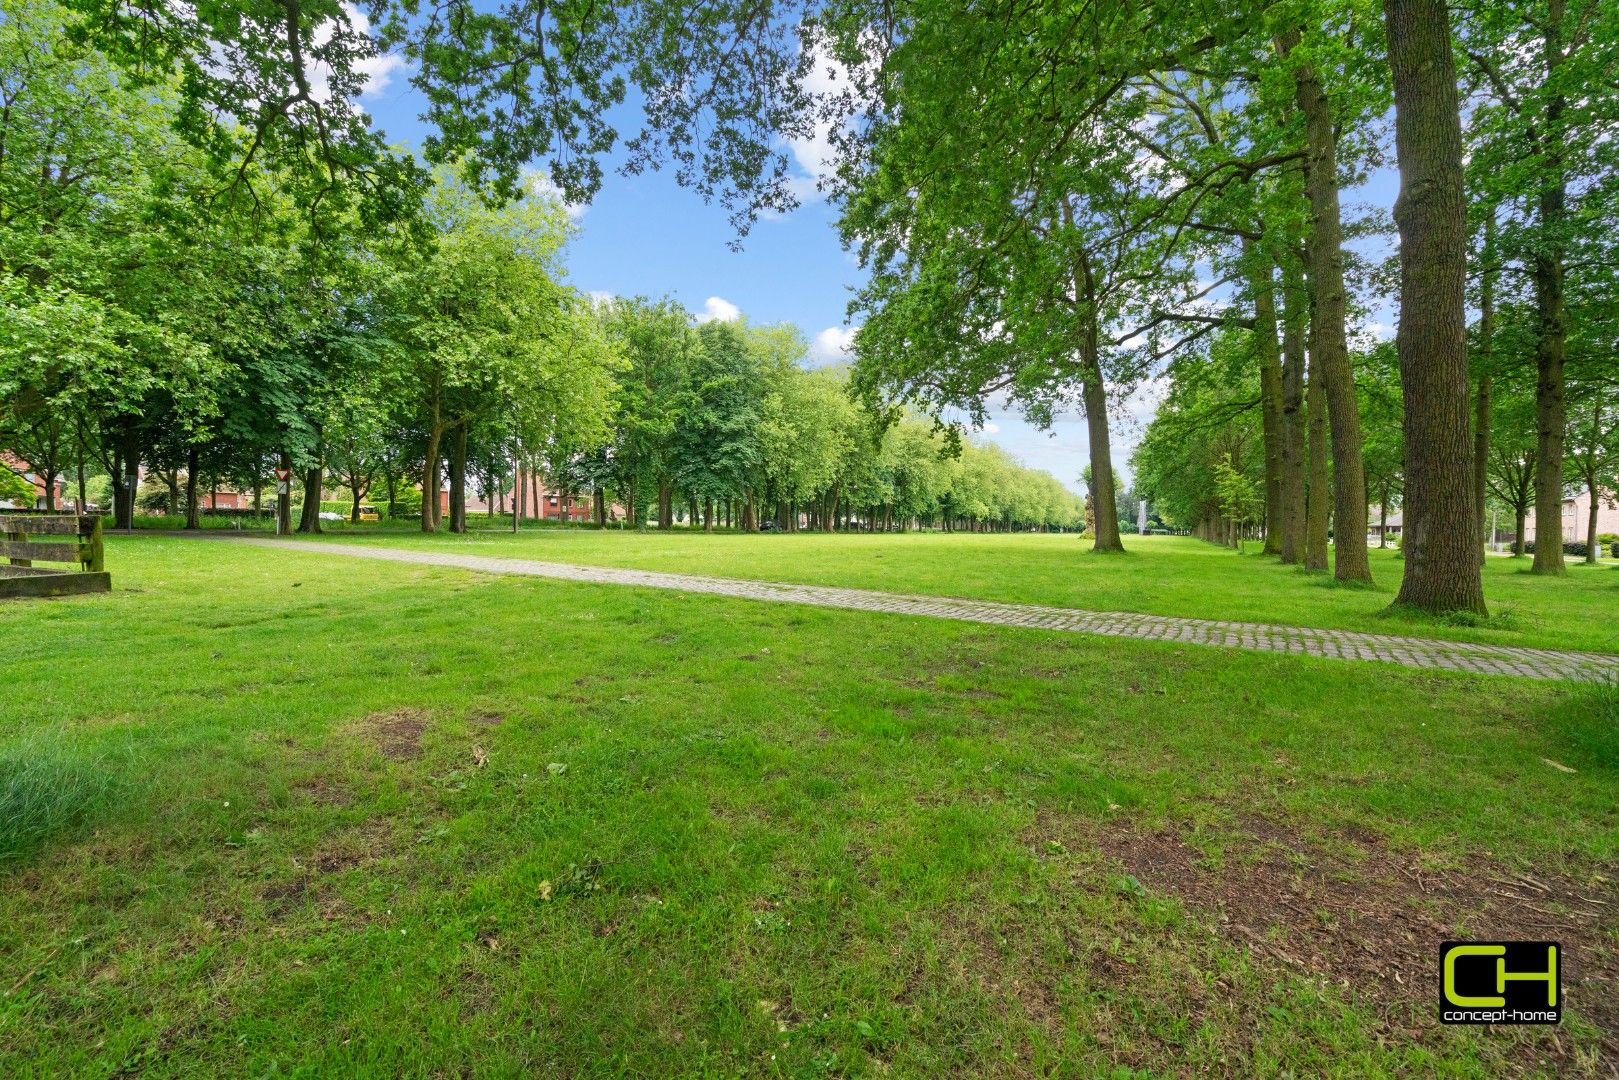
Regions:
<svg viewBox="0 0 1619 1080"><path fill-rule="evenodd" d="M695 325L670 301L610 300L622 356L609 439L546 461L554 481L617 492L640 521L685 508L706 528L1077 528L1080 502L1047 473L934 424L871 408L842 368L806 371L788 325ZM602 513L602 508L597 508Z"/></svg>

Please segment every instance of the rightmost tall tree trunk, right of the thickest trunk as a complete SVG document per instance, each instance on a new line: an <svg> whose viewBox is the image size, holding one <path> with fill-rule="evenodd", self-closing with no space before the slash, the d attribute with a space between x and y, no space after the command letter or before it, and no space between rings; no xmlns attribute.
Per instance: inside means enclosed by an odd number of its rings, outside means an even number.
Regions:
<svg viewBox="0 0 1619 1080"><path fill-rule="evenodd" d="M1543 55L1548 83L1562 66L1564 2L1546 5ZM1546 104L1540 149L1551 172L1540 191L1540 243L1530 264L1535 282L1535 563L1532 573L1566 573L1562 562L1562 452L1569 423L1562 366L1567 351L1564 317L1564 253L1567 251L1567 180L1562 173L1562 110L1554 96Z"/></svg>

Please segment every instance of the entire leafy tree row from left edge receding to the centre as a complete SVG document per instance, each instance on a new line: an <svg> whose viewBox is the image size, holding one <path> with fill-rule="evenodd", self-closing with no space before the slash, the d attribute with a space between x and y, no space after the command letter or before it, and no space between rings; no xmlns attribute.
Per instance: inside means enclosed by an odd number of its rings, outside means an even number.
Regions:
<svg viewBox="0 0 1619 1080"><path fill-rule="evenodd" d="M986 447L947 458L952 439L803 371L797 330L580 296L554 194L492 202L398 160L379 207L274 159L222 165L178 138L180 84L136 84L74 29L5 0L0 449L76 476L79 505L105 476L128 525L144 470L194 526L199 487L257 499L283 470L288 529L291 487L317 531L334 483L356 510L448 486L465 529L473 487L544 473L664 525L677 504L745 528L1081 520L1049 476ZM440 515L421 500L424 529Z"/></svg>

